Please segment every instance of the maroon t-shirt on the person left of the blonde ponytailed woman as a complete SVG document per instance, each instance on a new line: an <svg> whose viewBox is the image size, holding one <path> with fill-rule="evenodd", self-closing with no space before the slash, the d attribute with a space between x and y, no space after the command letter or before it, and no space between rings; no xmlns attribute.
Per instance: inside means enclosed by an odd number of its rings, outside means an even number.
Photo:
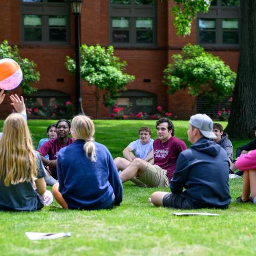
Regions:
<svg viewBox="0 0 256 256"><path fill-rule="evenodd" d="M59 151L61 150L62 147L68 146L69 144L73 143L74 139L73 138L68 138L68 142L65 145L60 145L58 142L58 139L52 139L48 140L42 146L39 148L38 152L42 156L49 155L50 160L56 160Z"/></svg>

